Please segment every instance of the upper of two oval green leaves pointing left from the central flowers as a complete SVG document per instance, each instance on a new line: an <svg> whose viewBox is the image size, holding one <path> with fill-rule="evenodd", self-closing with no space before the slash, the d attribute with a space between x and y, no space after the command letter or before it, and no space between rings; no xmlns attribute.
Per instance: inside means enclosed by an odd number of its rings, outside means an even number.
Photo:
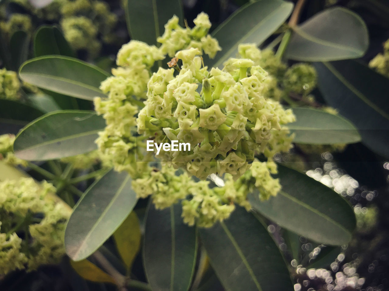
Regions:
<svg viewBox="0 0 389 291"><path fill-rule="evenodd" d="M99 87L109 74L71 57L46 55L28 60L20 67L19 76L37 87L72 97L107 97Z"/></svg>

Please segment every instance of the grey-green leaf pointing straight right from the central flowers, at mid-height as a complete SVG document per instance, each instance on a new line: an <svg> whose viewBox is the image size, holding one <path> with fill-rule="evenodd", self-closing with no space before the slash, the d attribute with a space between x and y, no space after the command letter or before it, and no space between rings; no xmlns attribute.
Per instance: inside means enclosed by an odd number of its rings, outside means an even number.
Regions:
<svg viewBox="0 0 389 291"><path fill-rule="evenodd" d="M352 123L342 116L312 108L293 108L296 122L287 126L300 144L352 144L361 137Z"/></svg>

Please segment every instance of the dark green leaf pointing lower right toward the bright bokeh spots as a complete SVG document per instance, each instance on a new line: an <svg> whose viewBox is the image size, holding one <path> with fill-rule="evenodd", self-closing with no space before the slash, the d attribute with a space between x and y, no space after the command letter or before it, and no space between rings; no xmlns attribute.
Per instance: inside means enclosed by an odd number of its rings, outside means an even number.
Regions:
<svg viewBox="0 0 389 291"><path fill-rule="evenodd" d="M347 244L355 229L354 211L343 197L298 171L278 165L282 190L267 201L249 194L254 210L285 229L329 245Z"/></svg>

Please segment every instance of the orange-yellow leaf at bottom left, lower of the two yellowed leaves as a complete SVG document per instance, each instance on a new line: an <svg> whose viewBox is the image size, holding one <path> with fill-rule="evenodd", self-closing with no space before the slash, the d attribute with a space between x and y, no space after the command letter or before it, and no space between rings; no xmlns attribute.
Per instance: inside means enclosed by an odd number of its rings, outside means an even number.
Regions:
<svg viewBox="0 0 389 291"><path fill-rule="evenodd" d="M86 280L99 283L115 284L115 280L110 275L105 273L102 269L89 262L88 260L82 260L79 262L71 260L70 265L72 265L77 274Z"/></svg>

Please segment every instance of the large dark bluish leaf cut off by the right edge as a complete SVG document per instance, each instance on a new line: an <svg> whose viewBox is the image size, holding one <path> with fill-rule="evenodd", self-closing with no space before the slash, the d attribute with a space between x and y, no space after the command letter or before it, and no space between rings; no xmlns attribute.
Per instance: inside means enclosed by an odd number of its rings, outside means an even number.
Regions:
<svg viewBox="0 0 389 291"><path fill-rule="evenodd" d="M357 61L314 66L326 102L354 123L367 147L389 157L388 79Z"/></svg>

